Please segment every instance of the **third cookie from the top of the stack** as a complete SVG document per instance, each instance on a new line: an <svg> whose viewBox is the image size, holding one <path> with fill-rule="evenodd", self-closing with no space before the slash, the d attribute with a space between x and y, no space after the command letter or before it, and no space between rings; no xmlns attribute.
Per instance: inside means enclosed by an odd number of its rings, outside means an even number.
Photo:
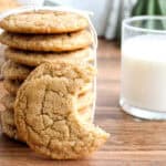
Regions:
<svg viewBox="0 0 166 166"><path fill-rule="evenodd" d="M43 52L28 52L8 48L4 50L4 55L6 58L14 61L15 63L29 66L37 66L43 62L65 61L73 63L82 63L83 61L85 62L93 61L91 49L82 49L64 53L55 53L55 52L43 53Z"/></svg>

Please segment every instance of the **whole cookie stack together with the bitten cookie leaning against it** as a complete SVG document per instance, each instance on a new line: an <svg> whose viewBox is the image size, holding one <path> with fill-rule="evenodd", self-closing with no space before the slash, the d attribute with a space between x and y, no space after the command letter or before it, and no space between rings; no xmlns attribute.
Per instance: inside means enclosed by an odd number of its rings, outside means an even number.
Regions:
<svg viewBox="0 0 166 166"><path fill-rule="evenodd" d="M96 69L85 17L29 11L0 21L8 94L1 98L2 132L54 159L96 151L108 134L91 122Z"/></svg>

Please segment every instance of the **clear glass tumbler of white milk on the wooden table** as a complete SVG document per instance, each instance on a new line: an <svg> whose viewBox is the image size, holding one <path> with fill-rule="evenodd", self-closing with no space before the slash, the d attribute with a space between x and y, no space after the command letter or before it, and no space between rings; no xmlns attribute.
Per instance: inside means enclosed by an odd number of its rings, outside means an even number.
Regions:
<svg viewBox="0 0 166 166"><path fill-rule="evenodd" d="M122 28L122 108L166 120L166 17L134 17Z"/></svg>

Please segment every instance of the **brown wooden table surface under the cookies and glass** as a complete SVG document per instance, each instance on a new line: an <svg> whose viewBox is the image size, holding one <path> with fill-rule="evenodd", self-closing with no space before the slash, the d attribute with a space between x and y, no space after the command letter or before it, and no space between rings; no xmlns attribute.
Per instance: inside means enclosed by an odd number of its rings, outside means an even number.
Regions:
<svg viewBox="0 0 166 166"><path fill-rule="evenodd" d="M120 48L100 40L95 123L111 133L102 149L81 160L48 160L0 134L0 166L165 166L166 122L141 121L121 110L120 64Z"/></svg>

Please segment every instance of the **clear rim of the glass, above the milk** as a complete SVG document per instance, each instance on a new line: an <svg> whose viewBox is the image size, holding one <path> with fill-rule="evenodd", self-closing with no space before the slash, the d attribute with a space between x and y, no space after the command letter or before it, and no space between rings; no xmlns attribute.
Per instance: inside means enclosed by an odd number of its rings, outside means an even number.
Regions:
<svg viewBox="0 0 166 166"><path fill-rule="evenodd" d="M122 22L123 28L127 28L131 29L133 31L142 31L142 32L151 32L151 33L166 33L166 30L154 30L154 29L146 29L146 28L139 28L139 27L135 27L135 25L131 25L131 22L134 21L143 21L143 20L165 20L166 21L166 17L163 15L139 15L139 17L132 17L132 18L127 18L124 19Z"/></svg>

